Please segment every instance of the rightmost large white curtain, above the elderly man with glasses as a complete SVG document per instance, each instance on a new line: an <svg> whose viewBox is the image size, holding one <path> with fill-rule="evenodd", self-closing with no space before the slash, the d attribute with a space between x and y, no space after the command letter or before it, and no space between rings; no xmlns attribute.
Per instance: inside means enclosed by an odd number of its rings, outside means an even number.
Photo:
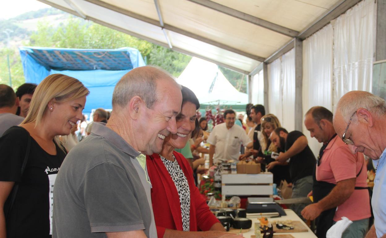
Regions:
<svg viewBox="0 0 386 238"><path fill-rule="evenodd" d="M364 0L334 23L334 110L348 91L371 92L375 6L374 0Z"/></svg>

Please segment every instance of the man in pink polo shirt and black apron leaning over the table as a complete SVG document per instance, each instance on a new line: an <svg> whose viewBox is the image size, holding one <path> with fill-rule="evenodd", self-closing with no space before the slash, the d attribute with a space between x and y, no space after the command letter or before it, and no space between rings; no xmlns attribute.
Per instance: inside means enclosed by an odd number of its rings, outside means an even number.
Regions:
<svg viewBox="0 0 386 238"><path fill-rule="evenodd" d="M353 223L343 238L363 238L369 226L370 198L367 190L367 169L362 153L352 154L335 133L331 111L312 107L304 124L311 137L323 142L314 170L312 192L314 203L306 206L304 218L317 218L317 236L325 238L327 230L342 216Z"/></svg>

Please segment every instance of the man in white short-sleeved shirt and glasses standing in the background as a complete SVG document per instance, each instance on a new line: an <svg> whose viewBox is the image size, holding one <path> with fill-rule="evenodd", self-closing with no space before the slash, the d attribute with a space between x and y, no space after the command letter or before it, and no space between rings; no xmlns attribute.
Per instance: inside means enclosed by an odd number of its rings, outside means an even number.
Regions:
<svg viewBox="0 0 386 238"><path fill-rule="evenodd" d="M251 142L245 130L235 125L236 113L233 110L226 110L224 119L224 123L213 128L207 140L210 144L209 166L213 165L213 154L215 163L219 162L219 159L239 162L240 146L248 145ZM252 143L248 146L252 147Z"/></svg>

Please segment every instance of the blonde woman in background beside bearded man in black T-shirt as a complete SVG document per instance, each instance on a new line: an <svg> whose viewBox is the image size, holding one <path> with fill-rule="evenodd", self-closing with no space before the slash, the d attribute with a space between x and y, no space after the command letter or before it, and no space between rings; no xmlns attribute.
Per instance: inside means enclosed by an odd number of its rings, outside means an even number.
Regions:
<svg viewBox="0 0 386 238"><path fill-rule="evenodd" d="M277 185L282 180L290 181L288 163L280 163L271 157L272 152L284 152L280 148L276 148L274 143L269 140L271 133L278 127L281 125L275 115L267 114L261 118L261 149L256 158L257 162L266 164L266 168L273 173L273 183Z"/></svg>

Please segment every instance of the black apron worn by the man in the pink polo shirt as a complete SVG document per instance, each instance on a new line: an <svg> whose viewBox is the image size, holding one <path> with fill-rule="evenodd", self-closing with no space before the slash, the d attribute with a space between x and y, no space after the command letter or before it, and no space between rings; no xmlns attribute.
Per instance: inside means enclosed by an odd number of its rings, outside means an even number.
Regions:
<svg viewBox="0 0 386 238"><path fill-rule="evenodd" d="M313 196L314 203L317 203L318 201L322 200L336 186L336 184L332 184L324 181L317 181L316 179L316 167L319 166L320 163L322 162L322 156L328 143L330 143L330 141L334 139L336 135L337 134L335 134L325 145L322 146L322 148L320 148L318 160L314 166L314 171L312 176L313 178L312 196ZM361 174L362 167L363 167L363 164L361 166L361 170L359 171L356 177L358 177L359 174ZM367 189L367 187L355 187L354 189ZM326 211L323 211L316 218L315 222L316 222L317 229L316 229L315 235L318 238L326 238L326 233L328 229L330 229L331 226L334 224L334 216L335 216L336 209L337 208L335 207L335 208L331 208Z"/></svg>

